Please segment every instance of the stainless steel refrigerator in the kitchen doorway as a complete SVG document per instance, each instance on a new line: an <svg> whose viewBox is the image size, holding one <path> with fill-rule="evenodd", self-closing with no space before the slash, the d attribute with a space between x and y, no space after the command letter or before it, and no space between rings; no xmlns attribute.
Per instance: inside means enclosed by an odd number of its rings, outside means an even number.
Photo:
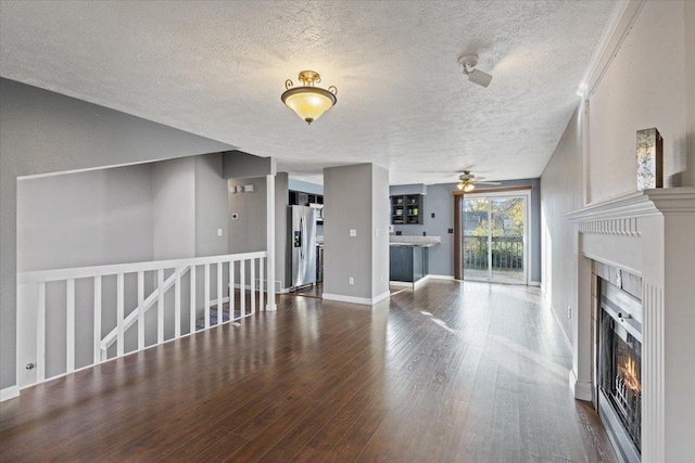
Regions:
<svg viewBox="0 0 695 463"><path fill-rule="evenodd" d="M290 252L293 287L316 282L316 209L290 206Z"/></svg>

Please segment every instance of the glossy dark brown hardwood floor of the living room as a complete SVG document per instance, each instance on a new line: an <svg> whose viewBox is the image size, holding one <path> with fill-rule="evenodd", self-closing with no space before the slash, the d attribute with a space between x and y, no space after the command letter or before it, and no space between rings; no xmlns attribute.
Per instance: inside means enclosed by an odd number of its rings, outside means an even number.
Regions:
<svg viewBox="0 0 695 463"><path fill-rule="evenodd" d="M277 312L0 404L1 461L614 462L533 288L429 281Z"/></svg>

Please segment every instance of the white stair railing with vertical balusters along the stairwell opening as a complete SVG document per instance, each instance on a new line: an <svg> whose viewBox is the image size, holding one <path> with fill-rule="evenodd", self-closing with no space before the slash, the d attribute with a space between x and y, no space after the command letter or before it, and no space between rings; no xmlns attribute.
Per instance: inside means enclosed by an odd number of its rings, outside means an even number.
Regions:
<svg viewBox="0 0 695 463"><path fill-rule="evenodd" d="M210 329L222 323L228 323L250 317L255 313L256 307L264 308L264 292L268 292L268 297L275 297L271 285L264 282L264 267L268 265L267 253L244 253L224 256L197 257L189 259L161 260L151 262L119 263L99 267L80 267L73 269L41 270L34 272L17 273L17 383L21 387L40 383L51 377L72 373L76 370L91 366L106 360L109 348L116 345L115 357L121 357L132 351L141 350L152 345L161 344L170 339L189 335L197 331L197 322L200 322L202 312L203 326ZM258 280L256 281L256 266L258 267ZM203 271L202 282L198 282L199 268ZM211 281L211 269L216 271L215 281ZM247 268L250 269L250 279L245 280ZM156 282L152 292L146 297L146 274L154 272ZM172 272L165 279L165 272ZM181 276L189 274L188 300L189 317L184 320L181 290ZM228 274L228 281L224 282L224 273ZM137 284L128 287L126 293L126 276L136 275ZM239 274L237 281L235 275ZM113 313L104 313L104 307L114 307L114 300L105 300L102 283L104 278L115 276L115 322ZM132 276L130 276L132 279ZM88 294L83 294L85 284L76 284L76 281L92 280L89 284ZM229 306L228 319L225 320L223 303L224 283L228 284ZM213 283L216 283L216 294L212 294ZM56 297L55 291L47 296L47 285L59 285L64 287L64 299ZM64 286L63 286L64 285ZM202 288L200 287L202 285ZM202 290L202 292L201 292ZM93 291L93 296L92 292ZM125 300L127 296L137 292L137 305L126 314ZM173 301L165 298L166 294L174 292ZM80 293L81 292L81 293ZM203 295L202 301L199 295ZM215 323L211 323L211 296L216 296L217 318ZM79 306L78 300L88 298L88 307ZM257 304L256 304L256 298ZM237 301L237 299L239 299ZM250 299L250 310L247 310L247 299ZM270 300L270 299L268 299ZM111 303L111 304L104 304ZM239 308L237 308L237 304ZM146 343L146 312L156 306L156 342ZM202 306L202 307L201 307ZM64 307L64 317L62 313ZM131 306L132 307L132 306ZM77 309L80 310L77 310ZM84 338L85 326L81 323L79 333L76 332L77 313L93 313L91 323L91 350L89 355L91 362L84 360L76 364L78 358L77 349L83 349L81 358L85 358ZM65 322L62 326L55 323L47 324L49 316L60 312L61 320ZM172 316L173 313L173 316ZM173 318L174 332L165 331L165 314L167 320ZM102 324L105 320L111 321L110 326L105 326L109 332L102 336ZM170 324L170 323L169 323ZM137 327L136 346L126 347L126 332ZM185 330L182 330L185 329ZM87 327L89 330L89 327ZM49 335L50 333L50 335ZM78 342L78 337L83 340ZM152 333L153 337L153 333ZM56 342L56 339L59 339ZM64 339L60 340L60 339ZM48 343L48 345L47 345ZM63 344L64 343L64 344ZM81 346L81 347L80 347ZM50 355L47 357L47 350ZM62 357L64 359L58 359ZM112 356L113 357L113 356ZM47 365L47 360L55 361L55 364ZM60 360L60 361L59 361ZM60 363L60 364L59 364ZM85 364L86 363L86 364ZM50 372L49 372L50 370Z"/></svg>

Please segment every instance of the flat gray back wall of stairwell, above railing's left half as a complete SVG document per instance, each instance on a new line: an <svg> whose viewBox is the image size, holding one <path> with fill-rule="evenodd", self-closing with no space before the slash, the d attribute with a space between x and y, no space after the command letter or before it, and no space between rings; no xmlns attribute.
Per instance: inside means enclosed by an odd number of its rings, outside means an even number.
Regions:
<svg viewBox="0 0 695 463"><path fill-rule="evenodd" d="M151 166L17 182L17 271L152 260Z"/></svg>

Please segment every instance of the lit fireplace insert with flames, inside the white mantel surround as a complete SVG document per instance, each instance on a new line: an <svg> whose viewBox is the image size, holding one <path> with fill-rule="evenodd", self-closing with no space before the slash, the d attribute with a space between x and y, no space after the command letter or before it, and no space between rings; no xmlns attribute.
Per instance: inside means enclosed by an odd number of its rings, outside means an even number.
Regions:
<svg viewBox="0 0 695 463"><path fill-rule="evenodd" d="M598 279L596 387L598 414L626 462L642 449L642 303Z"/></svg>

